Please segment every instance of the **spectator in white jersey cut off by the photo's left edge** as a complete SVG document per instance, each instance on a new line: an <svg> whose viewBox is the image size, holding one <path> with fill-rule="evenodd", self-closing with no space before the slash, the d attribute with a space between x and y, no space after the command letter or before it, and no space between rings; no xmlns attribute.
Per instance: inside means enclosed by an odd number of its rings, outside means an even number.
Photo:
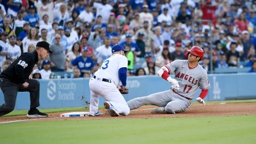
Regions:
<svg viewBox="0 0 256 144"><path fill-rule="evenodd" d="M0 29L0 36L0 67L2 67L6 57L9 56L9 43L7 42L8 34L3 29Z"/></svg>

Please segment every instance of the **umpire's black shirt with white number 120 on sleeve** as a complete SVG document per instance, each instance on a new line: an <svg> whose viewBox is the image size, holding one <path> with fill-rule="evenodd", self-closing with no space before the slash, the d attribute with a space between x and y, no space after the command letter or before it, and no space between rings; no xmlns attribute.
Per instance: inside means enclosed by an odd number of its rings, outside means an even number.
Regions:
<svg viewBox="0 0 256 144"><path fill-rule="evenodd" d="M16 84L23 84L32 73L37 62L37 51L22 53L19 59L13 61L12 64L1 73L0 77L7 78Z"/></svg>

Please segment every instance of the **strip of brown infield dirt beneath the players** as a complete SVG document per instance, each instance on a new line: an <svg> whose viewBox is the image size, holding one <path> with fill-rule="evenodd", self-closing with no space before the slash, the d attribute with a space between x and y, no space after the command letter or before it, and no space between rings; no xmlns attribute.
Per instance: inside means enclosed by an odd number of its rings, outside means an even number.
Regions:
<svg viewBox="0 0 256 144"><path fill-rule="evenodd" d="M256 103L227 103L227 104L209 104L209 105L191 105L190 108L178 114L151 114L151 108L156 106L143 106L131 111L129 116L111 117L106 109L100 109L100 116L94 117L65 117L59 118L60 114L68 113L49 113L49 117L33 121L63 121L67 119L110 119L110 118L168 118L168 117L198 117L198 116L231 116L231 115L256 115ZM0 122L19 121L29 119L24 116L0 117Z"/></svg>

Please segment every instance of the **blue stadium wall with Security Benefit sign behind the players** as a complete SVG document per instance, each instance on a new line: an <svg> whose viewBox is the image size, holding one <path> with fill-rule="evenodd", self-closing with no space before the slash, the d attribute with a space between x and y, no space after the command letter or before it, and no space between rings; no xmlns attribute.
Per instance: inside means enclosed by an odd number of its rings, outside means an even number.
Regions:
<svg viewBox="0 0 256 144"><path fill-rule="evenodd" d="M249 73L209 75L211 87L205 100L255 99L255 79L256 74ZM39 108L88 107L86 103L90 102L89 80L89 78L39 80L41 84ZM171 85L158 76L140 76L128 77L127 87L130 93L124 95L126 101L169 90ZM201 90L197 91L195 98L200 92ZM1 91L1 105L3 102ZM99 105L103 106L103 102L104 100L100 98ZM15 109L29 109L29 105L29 93L19 92Z"/></svg>

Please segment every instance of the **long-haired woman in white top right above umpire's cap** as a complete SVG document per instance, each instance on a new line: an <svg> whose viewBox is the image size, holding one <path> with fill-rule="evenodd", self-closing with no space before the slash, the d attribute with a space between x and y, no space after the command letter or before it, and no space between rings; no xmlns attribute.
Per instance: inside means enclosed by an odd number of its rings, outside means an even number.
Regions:
<svg viewBox="0 0 256 144"><path fill-rule="evenodd" d="M23 51L27 52L28 51L28 45L30 43L33 43L34 45L39 42L39 36L38 36L38 30L36 28L31 28L29 31L28 36L26 36L23 40Z"/></svg>

